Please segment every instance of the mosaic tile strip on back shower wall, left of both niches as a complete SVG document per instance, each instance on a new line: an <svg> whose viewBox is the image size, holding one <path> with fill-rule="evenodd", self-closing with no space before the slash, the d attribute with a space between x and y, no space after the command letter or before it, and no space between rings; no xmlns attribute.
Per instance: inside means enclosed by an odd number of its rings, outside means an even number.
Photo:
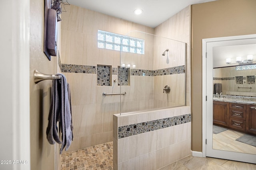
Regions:
<svg viewBox="0 0 256 170"><path fill-rule="evenodd" d="M96 66L61 64L61 72L96 74Z"/></svg>

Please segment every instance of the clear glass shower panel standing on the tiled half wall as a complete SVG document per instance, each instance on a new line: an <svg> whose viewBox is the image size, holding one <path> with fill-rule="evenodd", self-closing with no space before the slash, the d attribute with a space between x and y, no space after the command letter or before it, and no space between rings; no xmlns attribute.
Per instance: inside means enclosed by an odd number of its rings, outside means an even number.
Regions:
<svg viewBox="0 0 256 170"><path fill-rule="evenodd" d="M144 54L120 50L120 114L185 106L186 43L141 31L125 36L143 39Z"/></svg>

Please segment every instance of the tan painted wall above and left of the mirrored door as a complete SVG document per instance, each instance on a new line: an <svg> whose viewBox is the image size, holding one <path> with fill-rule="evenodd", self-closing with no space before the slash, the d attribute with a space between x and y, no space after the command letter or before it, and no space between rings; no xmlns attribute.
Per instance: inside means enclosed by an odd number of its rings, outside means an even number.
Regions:
<svg viewBox="0 0 256 170"><path fill-rule="evenodd" d="M202 151L202 39L256 33L255 0L217 0L191 6L191 149Z"/></svg>

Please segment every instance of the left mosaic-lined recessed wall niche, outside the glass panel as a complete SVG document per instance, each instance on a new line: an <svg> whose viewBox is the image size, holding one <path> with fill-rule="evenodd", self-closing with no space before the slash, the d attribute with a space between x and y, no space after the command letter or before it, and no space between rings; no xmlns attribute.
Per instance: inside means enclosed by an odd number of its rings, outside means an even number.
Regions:
<svg viewBox="0 0 256 170"><path fill-rule="evenodd" d="M97 86L111 86L111 66L97 65Z"/></svg>

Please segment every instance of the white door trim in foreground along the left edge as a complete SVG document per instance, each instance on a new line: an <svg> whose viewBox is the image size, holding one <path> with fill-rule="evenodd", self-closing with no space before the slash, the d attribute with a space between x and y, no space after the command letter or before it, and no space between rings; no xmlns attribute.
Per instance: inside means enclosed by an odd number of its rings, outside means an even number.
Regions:
<svg viewBox="0 0 256 170"><path fill-rule="evenodd" d="M4 1L0 14L0 169L30 170L30 0Z"/></svg>

